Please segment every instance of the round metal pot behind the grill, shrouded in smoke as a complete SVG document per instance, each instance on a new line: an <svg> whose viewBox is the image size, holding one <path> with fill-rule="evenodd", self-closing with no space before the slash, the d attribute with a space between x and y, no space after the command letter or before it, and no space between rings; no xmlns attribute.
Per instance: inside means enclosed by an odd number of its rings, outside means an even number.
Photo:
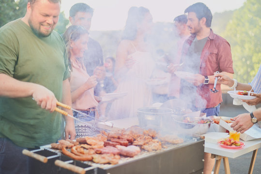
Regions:
<svg viewBox="0 0 261 174"><path fill-rule="evenodd" d="M144 107L138 109L138 121L141 128L159 129L170 126L173 119L172 109Z"/></svg>

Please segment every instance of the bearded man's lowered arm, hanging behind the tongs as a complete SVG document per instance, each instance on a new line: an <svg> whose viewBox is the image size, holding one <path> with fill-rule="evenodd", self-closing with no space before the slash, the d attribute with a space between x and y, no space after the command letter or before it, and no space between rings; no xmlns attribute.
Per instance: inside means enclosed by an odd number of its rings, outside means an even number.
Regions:
<svg viewBox="0 0 261 174"><path fill-rule="evenodd" d="M70 90L70 83L69 80L66 79L62 82L62 103L67 104L69 106L72 105L72 98L71 98L71 90ZM73 111L64 109L66 112L68 112L69 115L73 116ZM70 116L64 116L65 120L65 139L69 138L69 135L71 136L70 139L74 140L76 136L75 132L75 126L74 126L74 119Z"/></svg>

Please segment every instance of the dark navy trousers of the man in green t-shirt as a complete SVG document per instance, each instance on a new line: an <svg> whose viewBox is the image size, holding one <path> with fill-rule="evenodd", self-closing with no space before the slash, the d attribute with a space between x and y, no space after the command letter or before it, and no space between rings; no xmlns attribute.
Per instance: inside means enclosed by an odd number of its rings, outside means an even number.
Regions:
<svg viewBox="0 0 261 174"><path fill-rule="evenodd" d="M31 174L31 158L8 138L0 138L0 174ZM32 149L28 149L32 150Z"/></svg>

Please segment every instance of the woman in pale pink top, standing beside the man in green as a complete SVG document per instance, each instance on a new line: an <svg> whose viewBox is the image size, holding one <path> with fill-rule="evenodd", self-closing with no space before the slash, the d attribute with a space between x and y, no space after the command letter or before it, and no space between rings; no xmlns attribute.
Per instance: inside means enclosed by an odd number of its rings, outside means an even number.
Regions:
<svg viewBox="0 0 261 174"><path fill-rule="evenodd" d="M96 77L89 76L83 64L83 54L87 50L89 33L81 26L70 26L63 34L66 44L71 70L70 86L72 96L72 107L89 116L74 112L74 117L86 122L75 120L76 138L92 134L93 117L98 102L95 100L94 89L97 85Z"/></svg>

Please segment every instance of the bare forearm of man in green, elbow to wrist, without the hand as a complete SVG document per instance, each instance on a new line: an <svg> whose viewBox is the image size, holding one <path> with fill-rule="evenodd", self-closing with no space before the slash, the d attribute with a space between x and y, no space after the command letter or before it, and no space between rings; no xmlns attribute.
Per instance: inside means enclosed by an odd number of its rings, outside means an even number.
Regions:
<svg viewBox="0 0 261 174"><path fill-rule="evenodd" d="M32 96L36 86L39 85L22 82L0 73L0 96L9 98L29 97Z"/></svg>

